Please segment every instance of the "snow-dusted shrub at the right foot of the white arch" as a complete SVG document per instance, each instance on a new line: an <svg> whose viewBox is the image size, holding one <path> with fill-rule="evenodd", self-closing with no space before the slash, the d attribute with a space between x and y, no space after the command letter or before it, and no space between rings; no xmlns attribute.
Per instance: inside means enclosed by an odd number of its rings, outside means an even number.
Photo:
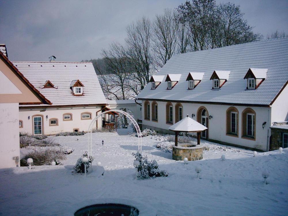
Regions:
<svg viewBox="0 0 288 216"><path fill-rule="evenodd" d="M148 160L147 156L143 157L139 152L132 153L136 160L140 162L138 167L139 179L149 179L155 177L167 177L169 173L165 170L159 170L158 163L156 160Z"/></svg>

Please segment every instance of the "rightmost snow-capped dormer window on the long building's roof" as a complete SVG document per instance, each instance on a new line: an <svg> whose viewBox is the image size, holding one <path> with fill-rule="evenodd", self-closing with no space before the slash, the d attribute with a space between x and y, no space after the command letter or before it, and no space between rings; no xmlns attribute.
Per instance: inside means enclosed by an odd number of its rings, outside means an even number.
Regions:
<svg viewBox="0 0 288 216"><path fill-rule="evenodd" d="M257 89L266 79L268 69L249 68L244 79L247 79L246 89Z"/></svg>

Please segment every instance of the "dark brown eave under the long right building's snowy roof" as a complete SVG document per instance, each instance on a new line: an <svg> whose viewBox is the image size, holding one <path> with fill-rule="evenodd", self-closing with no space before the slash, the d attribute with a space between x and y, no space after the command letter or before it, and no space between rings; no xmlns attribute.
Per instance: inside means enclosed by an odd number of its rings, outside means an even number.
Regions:
<svg viewBox="0 0 288 216"><path fill-rule="evenodd" d="M287 81L288 82L288 81ZM149 100L149 101L161 101L161 102L173 102L173 103L198 103L198 104L215 104L215 105L231 105L231 106L244 106L244 107L269 107L270 105L262 104L242 104L242 103L223 103L223 102L203 102L203 101L176 101L176 100L163 100L155 98L136 98L136 100Z"/></svg>

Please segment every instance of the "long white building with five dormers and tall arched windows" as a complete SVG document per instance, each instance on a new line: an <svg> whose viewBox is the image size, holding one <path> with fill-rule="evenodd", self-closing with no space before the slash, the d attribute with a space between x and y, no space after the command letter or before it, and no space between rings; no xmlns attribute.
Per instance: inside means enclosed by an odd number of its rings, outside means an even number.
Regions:
<svg viewBox="0 0 288 216"><path fill-rule="evenodd" d="M288 120L287 59L287 37L175 55L137 96L143 128L188 114L203 139L267 151L270 126Z"/></svg>

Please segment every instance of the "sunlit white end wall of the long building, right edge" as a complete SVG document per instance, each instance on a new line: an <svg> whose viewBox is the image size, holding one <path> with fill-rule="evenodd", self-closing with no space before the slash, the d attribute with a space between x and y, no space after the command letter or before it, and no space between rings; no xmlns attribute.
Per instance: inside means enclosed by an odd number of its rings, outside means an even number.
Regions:
<svg viewBox="0 0 288 216"><path fill-rule="evenodd" d="M271 123L288 120L288 85L272 104Z"/></svg>

